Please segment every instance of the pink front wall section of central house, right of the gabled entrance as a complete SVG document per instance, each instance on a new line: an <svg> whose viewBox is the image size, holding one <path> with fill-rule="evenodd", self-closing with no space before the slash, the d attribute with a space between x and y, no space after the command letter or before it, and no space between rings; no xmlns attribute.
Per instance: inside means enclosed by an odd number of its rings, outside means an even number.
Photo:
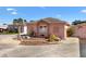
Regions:
<svg viewBox="0 0 86 64"><path fill-rule="evenodd" d="M56 35L62 39L65 39L66 38L66 28L65 28L66 25L64 24L51 24L50 26L50 34L51 35Z"/></svg>

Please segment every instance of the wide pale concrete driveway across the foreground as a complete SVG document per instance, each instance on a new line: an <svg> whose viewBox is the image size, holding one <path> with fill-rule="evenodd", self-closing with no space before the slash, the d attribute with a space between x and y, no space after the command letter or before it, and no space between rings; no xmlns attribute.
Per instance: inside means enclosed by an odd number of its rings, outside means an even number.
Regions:
<svg viewBox="0 0 86 64"><path fill-rule="evenodd" d="M8 38L10 36L5 37ZM4 37L0 36L0 38L3 39ZM79 57L79 43L77 38L67 38L58 44L47 46L19 46L8 43L8 41L7 43L0 43L1 57Z"/></svg>

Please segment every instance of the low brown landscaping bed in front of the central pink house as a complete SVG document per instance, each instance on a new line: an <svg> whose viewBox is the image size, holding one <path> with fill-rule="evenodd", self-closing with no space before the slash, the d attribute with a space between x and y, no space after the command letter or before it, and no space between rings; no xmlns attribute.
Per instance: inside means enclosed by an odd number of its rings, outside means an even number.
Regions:
<svg viewBox="0 0 86 64"><path fill-rule="evenodd" d="M30 38L30 39L22 39L21 44L24 46L38 46L38 44L54 44L59 41L48 41L48 39L45 38Z"/></svg>

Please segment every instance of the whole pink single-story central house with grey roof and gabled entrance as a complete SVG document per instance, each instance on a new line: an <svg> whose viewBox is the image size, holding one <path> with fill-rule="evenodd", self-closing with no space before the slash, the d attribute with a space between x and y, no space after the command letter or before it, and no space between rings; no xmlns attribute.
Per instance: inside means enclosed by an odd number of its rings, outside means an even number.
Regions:
<svg viewBox="0 0 86 64"><path fill-rule="evenodd" d="M47 17L27 23L27 31L34 31L34 36L36 37L49 37L50 35L56 35L61 39L65 39L67 26L69 24L65 21Z"/></svg>

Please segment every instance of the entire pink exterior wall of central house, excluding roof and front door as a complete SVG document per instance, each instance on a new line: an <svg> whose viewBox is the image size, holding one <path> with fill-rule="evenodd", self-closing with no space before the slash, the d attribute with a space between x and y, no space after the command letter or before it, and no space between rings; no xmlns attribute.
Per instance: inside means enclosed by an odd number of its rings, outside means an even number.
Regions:
<svg viewBox="0 0 86 64"><path fill-rule="evenodd" d="M47 34L45 34L45 37L48 37L49 35L56 35L62 39L66 38L66 25L61 23L36 23L36 24L28 24L27 29L35 31L35 36L40 37L39 28L40 26L47 27Z"/></svg>

